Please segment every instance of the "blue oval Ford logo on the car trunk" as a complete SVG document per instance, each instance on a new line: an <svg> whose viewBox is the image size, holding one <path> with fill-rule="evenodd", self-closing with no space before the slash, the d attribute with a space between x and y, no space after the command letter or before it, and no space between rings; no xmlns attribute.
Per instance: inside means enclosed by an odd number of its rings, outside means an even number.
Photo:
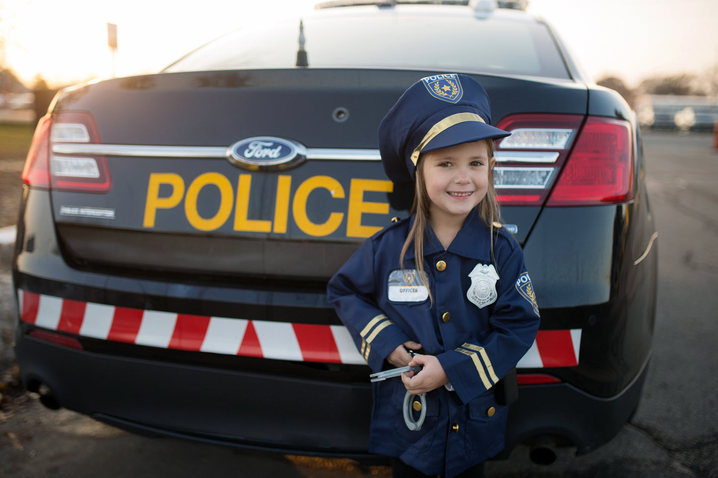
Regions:
<svg viewBox="0 0 718 478"><path fill-rule="evenodd" d="M243 139L227 150L232 164L251 171L286 169L307 159L307 148L291 139L256 136Z"/></svg>

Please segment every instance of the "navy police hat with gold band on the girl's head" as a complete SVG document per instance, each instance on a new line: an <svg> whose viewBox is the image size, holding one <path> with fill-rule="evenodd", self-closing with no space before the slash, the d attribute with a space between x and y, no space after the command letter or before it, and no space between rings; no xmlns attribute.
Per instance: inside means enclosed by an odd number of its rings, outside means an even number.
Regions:
<svg viewBox="0 0 718 478"><path fill-rule="evenodd" d="M456 73L421 78L379 125L379 152L394 183L414 181L419 154L511 133L491 126L489 97L476 80Z"/></svg>

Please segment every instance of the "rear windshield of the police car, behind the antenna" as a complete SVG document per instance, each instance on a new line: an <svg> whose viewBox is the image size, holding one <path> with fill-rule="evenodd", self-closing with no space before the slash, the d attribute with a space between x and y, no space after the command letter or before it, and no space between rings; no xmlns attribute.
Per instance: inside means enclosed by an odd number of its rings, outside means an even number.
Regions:
<svg viewBox="0 0 718 478"><path fill-rule="evenodd" d="M373 9L351 15L314 14L303 24L310 67L404 67L570 78L546 26L524 17L479 19ZM165 71L292 67L298 47L299 21L261 24L220 37Z"/></svg>

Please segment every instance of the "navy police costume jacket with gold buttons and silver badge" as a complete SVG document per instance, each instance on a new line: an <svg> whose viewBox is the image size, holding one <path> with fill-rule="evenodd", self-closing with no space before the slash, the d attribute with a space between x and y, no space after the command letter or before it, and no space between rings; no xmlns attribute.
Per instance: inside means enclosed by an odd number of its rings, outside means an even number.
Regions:
<svg viewBox="0 0 718 478"><path fill-rule="evenodd" d="M490 230L476 210L446 250L427 227L424 270L432 303L417 278L413 245L399 266L413 220L366 240L332 277L327 297L373 372L408 340L437 356L453 390L426 393L418 431L404 424L401 378L373 383L369 451L452 477L503 449L508 407L496 403L493 386L531 347L538 307L521 247L495 229L492 263Z"/></svg>

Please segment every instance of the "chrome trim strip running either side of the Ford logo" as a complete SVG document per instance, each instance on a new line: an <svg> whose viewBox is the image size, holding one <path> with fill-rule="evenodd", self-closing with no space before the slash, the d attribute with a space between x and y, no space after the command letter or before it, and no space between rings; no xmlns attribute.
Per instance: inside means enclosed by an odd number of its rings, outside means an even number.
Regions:
<svg viewBox="0 0 718 478"><path fill-rule="evenodd" d="M97 156L143 156L151 158L223 158L225 146L135 146L130 144L53 144L57 154ZM338 161L381 161L378 149L307 148L307 159Z"/></svg>

